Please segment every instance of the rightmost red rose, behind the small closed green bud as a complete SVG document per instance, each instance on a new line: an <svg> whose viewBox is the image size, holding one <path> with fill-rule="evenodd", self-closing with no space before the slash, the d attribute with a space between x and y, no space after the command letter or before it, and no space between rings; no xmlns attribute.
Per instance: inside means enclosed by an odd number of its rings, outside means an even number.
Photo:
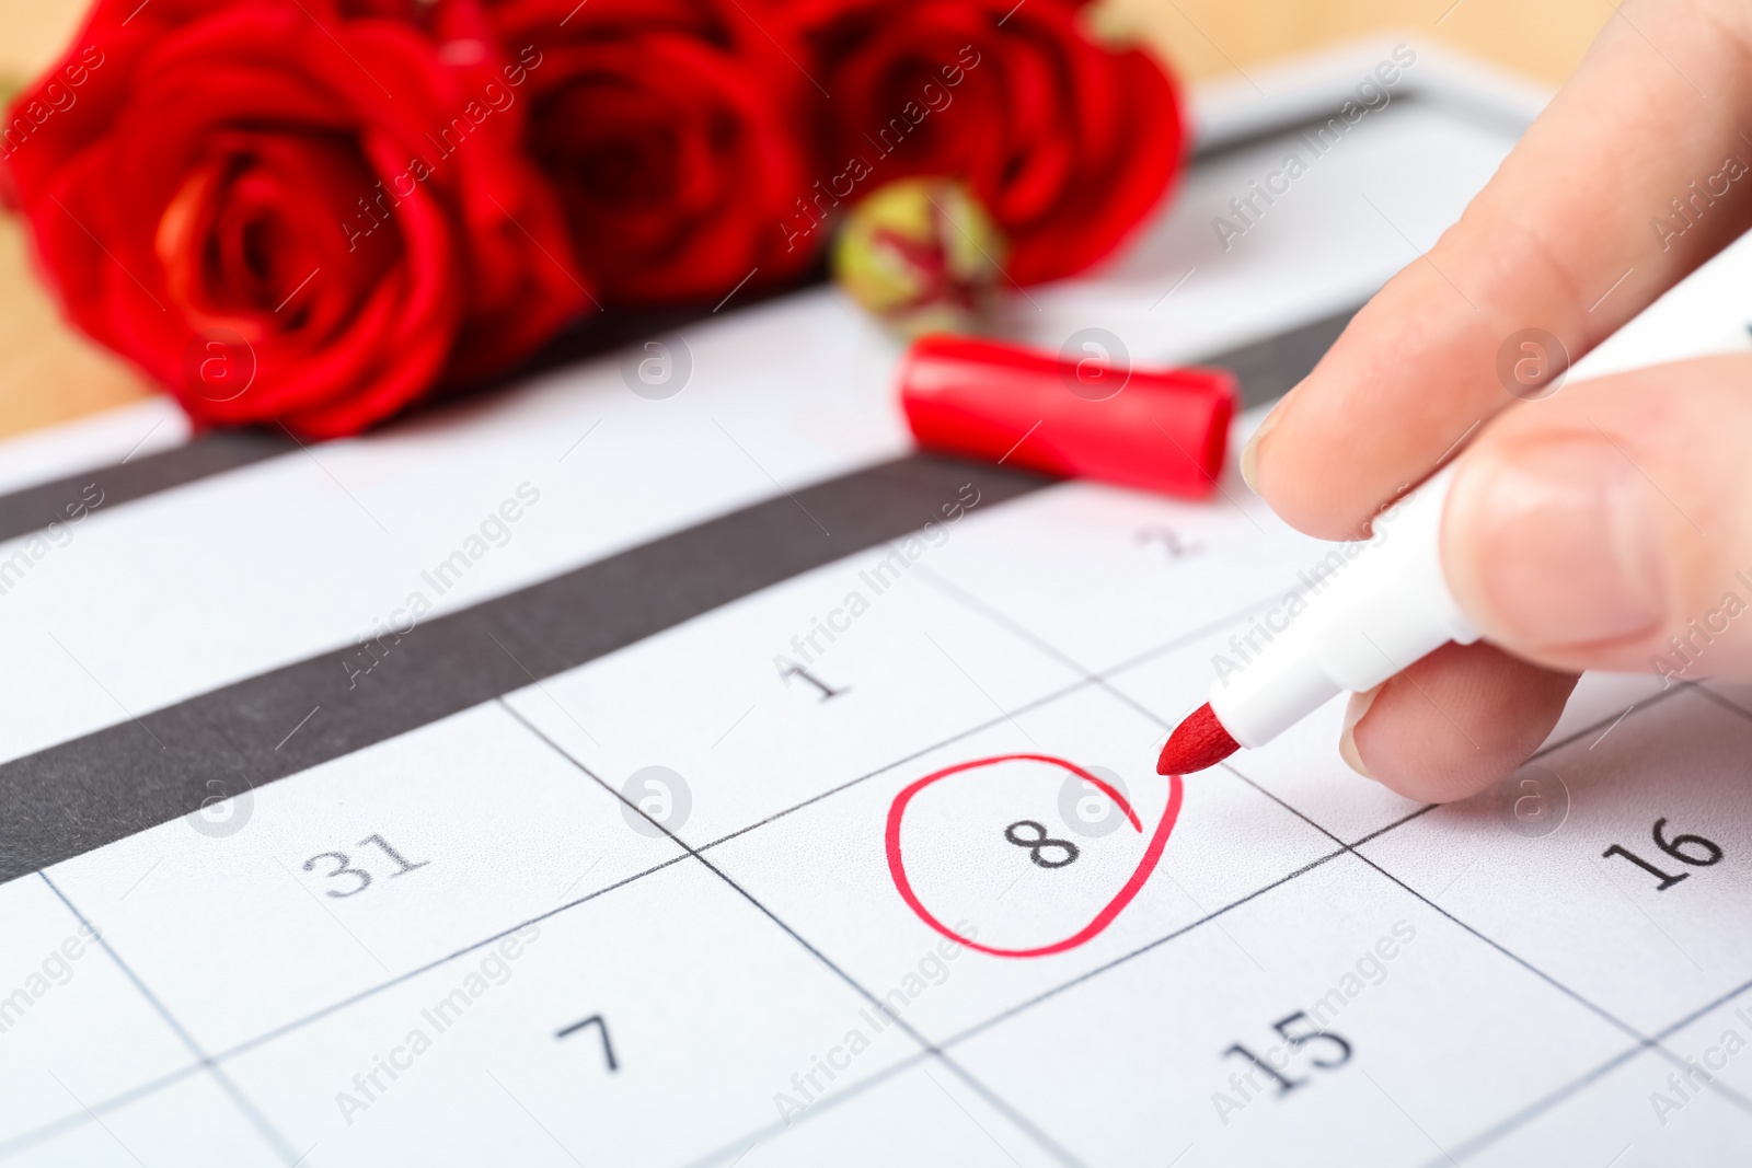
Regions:
<svg viewBox="0 0 1752 1168"><path fill-rule="evenodd" d="M967 180L1020 284L1077 271L1155 208L1179 170L1174 84L1079 28L1077 0L788 0L830 100L827 187Z"/></svg>

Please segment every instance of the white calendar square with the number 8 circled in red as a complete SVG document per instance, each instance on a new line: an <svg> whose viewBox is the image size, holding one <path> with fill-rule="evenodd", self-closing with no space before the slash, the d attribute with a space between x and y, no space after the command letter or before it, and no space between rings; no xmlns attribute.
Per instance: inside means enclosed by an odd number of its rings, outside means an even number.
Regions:
<svg viewBox="0 0 1752 1168"><path fill-rule="evenodd" d="M1279 804L1212 770L1186 779L1151 865L1149 844L1172 790L1151 765L1155 734L1155 721L1128 702L1077 690L706 855L941 1042L1337 851ZM916 898L909 904L887 846L895 800L930 774L1009 755L1109 776L1139 827L1123 816L1084 820L1083 800L1097 804L1093 811L1102 797L1063 767L1009 758L957 770L920 788L901 813L901 870ZM1037 842L1042 834L1056 842ZM1134 897L1090 932L1139 872ZM983 953L950 933L1035 956Z"/></svg>

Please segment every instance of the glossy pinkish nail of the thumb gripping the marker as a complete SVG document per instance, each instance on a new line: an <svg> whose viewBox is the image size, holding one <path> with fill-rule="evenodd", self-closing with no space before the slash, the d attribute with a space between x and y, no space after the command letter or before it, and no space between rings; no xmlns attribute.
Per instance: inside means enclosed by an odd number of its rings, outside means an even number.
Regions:
<svg viewBox="0 0 1752 1168"><path fill-rule="evenodd" d="M1661 517L1626 455L1544 440L1466 468L1451 515L1491 632L1526 646L1619 641L1666 613ZM1454 511L1454 504L1459 511Z"/></svg>

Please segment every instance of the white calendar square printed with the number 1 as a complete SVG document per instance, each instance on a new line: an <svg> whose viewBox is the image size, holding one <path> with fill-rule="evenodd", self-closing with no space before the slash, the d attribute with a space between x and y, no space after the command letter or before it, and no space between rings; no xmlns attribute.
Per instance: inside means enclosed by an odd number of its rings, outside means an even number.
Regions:
<svg viewBox="0 0 1752 1168"><path fill-rule="evenodd" d="M918 541L916 566L904 543L855 555L506 700L682 839L722 839L1083 679L922 578L978 522Z"/></svg>

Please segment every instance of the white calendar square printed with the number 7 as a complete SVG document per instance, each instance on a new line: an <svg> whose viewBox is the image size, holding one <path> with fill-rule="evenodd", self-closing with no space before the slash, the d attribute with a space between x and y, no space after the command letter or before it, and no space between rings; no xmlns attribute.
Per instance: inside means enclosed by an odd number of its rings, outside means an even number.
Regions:
<svg viewBox="0 0 1752 1168"><path fill-rule="evenodd" d="M226 1066L324 1168L673 1166L920 1052L876 1021L689 860Z"/></svg>

